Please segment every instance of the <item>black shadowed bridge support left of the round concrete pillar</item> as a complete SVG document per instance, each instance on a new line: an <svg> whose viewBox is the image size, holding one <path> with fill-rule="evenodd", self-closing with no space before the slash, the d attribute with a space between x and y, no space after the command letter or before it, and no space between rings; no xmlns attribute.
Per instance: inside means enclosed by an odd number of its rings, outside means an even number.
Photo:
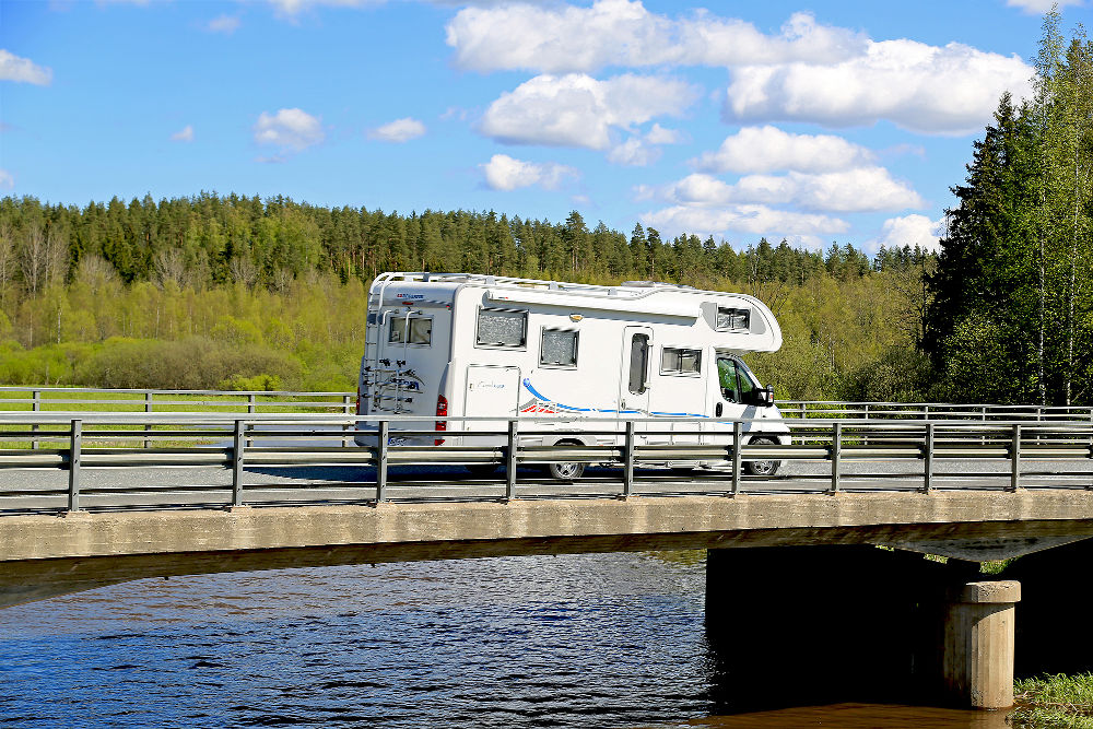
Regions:
<svg viewBox="0 0 1093 729"><path fill-rule="evenodd" d="M942 695L947 597L978 578L978 567L866 545L709 550L715 684L732 710L950 703Z"/></svg>

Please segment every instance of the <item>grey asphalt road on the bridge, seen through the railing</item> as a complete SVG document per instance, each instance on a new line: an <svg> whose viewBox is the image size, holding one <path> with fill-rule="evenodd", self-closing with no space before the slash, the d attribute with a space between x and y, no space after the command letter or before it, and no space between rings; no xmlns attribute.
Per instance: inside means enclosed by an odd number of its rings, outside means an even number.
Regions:
<svg viewBox="0 0 1093 729"><path fill-rule="evenodd" d="M908 491L922 485L922 461L843 460L839 486L845 491ZM727 493L730 469L672 471L638 469L636 495ZM245 501L250 504L366 503L376 497L374 468L357 466L247 467ZM80 474L82 508L193 508L231 503L232 472L223 467L91 468ZM517 497L610 497L622 493L622 471L589 468L575 482L546 478L541 468L521 466ZM1006 460L938 460L935 489L992 489L1010 484ZM775 478L745 477L745 493L825 491L831 463L821 460L785 461ZM1022 461L1025 487L1083 489L1093 485L1090 460ZM66 508L68 472L50 470L0 471L0 518L28 510ZM461 466L391 467L387 497L391 499L496 499L505 495L504 471L493 478L472 475Z"/></svg>

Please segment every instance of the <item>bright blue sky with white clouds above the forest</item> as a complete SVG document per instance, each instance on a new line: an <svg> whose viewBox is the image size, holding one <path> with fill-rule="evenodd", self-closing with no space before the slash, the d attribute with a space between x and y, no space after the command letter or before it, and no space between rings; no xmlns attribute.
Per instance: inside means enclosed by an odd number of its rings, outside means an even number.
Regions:
<svg viewBox="0 0 1093 729"><path fill-rule="evenodd" d="M933 245L1049 4L0 0L0 195Z"/></svg>

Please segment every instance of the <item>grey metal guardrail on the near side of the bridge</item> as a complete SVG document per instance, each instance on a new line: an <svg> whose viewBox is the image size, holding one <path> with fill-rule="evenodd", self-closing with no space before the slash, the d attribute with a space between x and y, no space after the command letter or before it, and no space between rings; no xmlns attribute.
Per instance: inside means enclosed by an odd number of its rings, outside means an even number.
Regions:
<svg viewBox="0 0 1093 729"><path fill-rule="evenodd" d="M514 419L504 430L478 430L498 419L447 418L474 430L435 430L434 418L392 416L369 420L375 427L359 430L356 416L257 415L232 419L209 414L115 413L0 413L0 442L7 445L39 444L37 449L9 447L0 450L0 471L64 471L67 490L57 487L15 489L0 478L0 512L4 503L64 495L61 510L85 508L84 499L95 497L109 505L104 495L180 495L171 506L242 506L265 503L329 503L333 489L338 501L379 504L392 496L391 469L401 467L471 466L504 469L503 478L473 480L425 480L411 485L416 495L407 498L479 499L518 497L550 498L576 494L596 497L703 493L799 492L802 489L831 494L861 490L929 492L959 487L940 481L963 480L971 486L1015 491L1019 487L1066 487L1093 490L1093 425L1080 422L1032 424L1026 421L893 421L893 420L788 420L790 445L750 443L750 431L764 421L728 421L726 432L710 431L710 421L694 419L645 419L585 421L592 425L595 445L542 445L542 436L556 437L556 421ZM765 421L769 425L769 421ZM410 430L413 428L413 430ZM354 438L373 442L356 446ZM392 439L392 436L393 439ZM434 447L435 438L450 444ZM744 462L778 460L826 463L816 473L794 477L745 474ZM719 470L680 478L663 469L638 473L647 465L686 466L718 461ZM850 461L921 462L910 471L853 472ZM943 473L942 461L995 466L985 472ZM520 473L521 466L557 462L602 465L603 473L565 483ZM1037 462L1048 470L1032 471ZM1046 466L1045 466L1046 465ZM150 469L188 467L231 470L230 484L175 486L134 485L86 487L83 475L90 469ZM245 473L270 469L356 467L375 469L356 473L361 481L302 484L248 484ZM1001 467L1001 468L997 468ZM1053 478L1061 479L1053 483ZM1046 481L1045 481L1046 479ZM4 483L7 482L7 483ZM665 489L665 484L669 487ZM673 486L674 484L674 486ZM406 491L407 482L398 487ZM462 490L453 494L453 489ZM274 497L277 492L280 494ZM212 498L211 495L215 495ZM287 498L282 498L286 496ZM219 499L219 501L218 501ZM122 505L124 506L124 505ZM58 510L57 505L44 507ZM25 510L25 509L24 509Z"/></svg>

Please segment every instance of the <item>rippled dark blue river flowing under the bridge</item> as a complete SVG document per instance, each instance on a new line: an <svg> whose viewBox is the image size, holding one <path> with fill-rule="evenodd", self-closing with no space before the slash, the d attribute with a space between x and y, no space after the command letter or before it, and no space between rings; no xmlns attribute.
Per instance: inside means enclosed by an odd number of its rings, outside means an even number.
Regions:
<svg viewBox="0 0 1093 729"><path fill-rule="evenodd" d="M954 727L885 704L741 713L693 554L140 580L0 611L0 726ZM776 684L777 677L771 677Z"/></svg>

